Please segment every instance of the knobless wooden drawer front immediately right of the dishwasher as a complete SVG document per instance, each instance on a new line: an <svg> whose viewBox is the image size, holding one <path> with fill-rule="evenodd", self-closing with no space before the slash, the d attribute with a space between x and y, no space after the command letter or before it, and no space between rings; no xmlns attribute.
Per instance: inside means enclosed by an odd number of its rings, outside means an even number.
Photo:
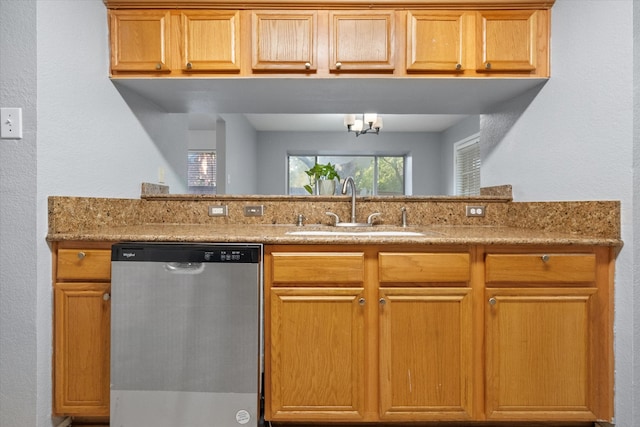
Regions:
<svg viewBox="0 0 640 427"><path fill-rule="evenodd" d="M364 253L361 252L280 252L271 256L274 284L335 286L364 281Z"/></svg>

